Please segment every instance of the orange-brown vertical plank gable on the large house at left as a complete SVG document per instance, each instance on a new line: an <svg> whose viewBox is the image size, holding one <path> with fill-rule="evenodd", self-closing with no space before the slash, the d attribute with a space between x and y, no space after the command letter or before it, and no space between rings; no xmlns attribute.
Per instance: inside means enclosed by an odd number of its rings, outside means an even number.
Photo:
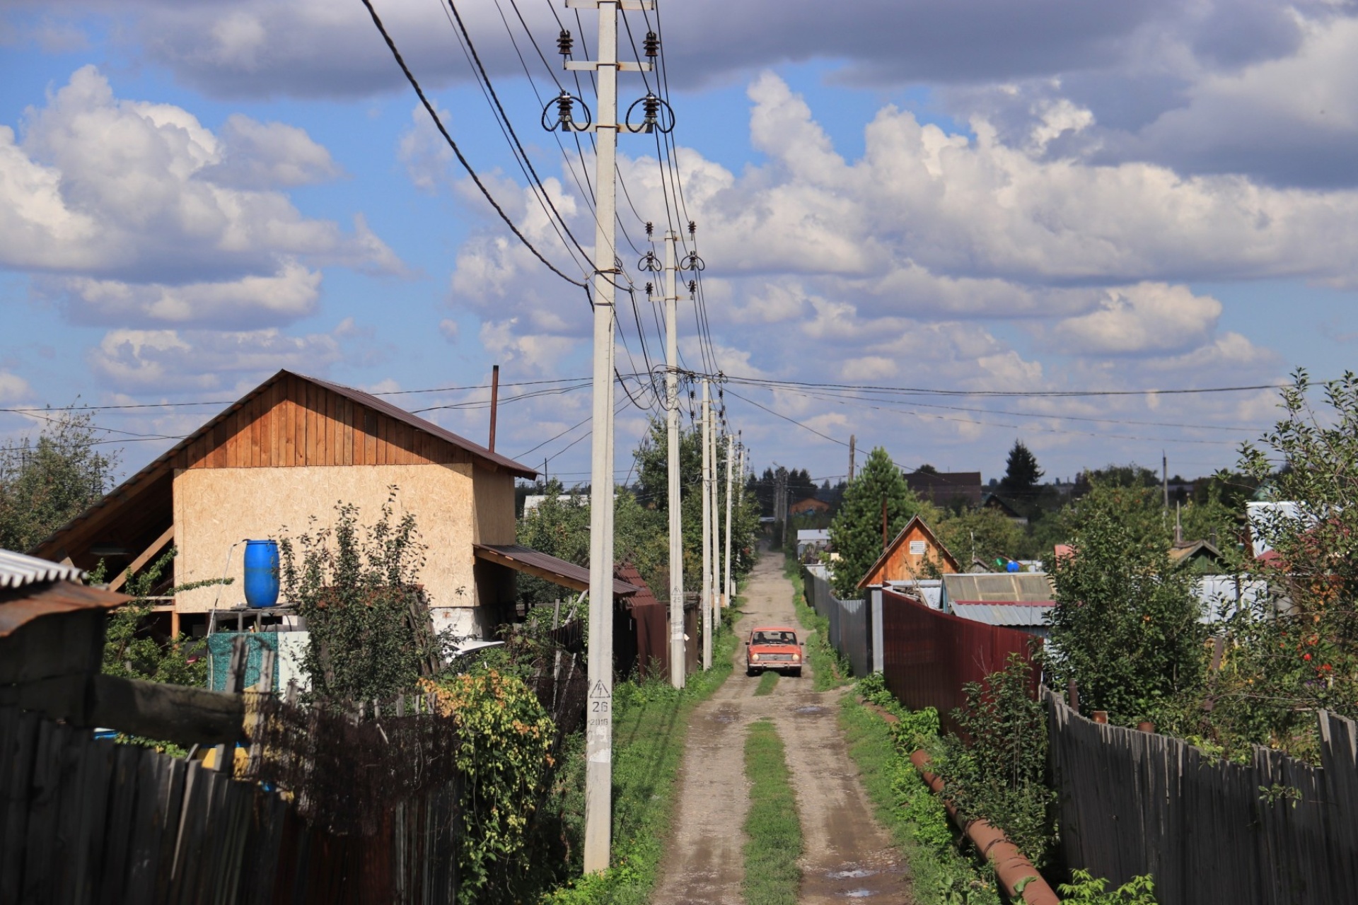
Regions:
<svg viewBox="0 0 1358 905"><path fill-rule="evenodd" d="M471 455L297 377L284 377L228 414L177 457L175 468L470 464Z"/></svg>

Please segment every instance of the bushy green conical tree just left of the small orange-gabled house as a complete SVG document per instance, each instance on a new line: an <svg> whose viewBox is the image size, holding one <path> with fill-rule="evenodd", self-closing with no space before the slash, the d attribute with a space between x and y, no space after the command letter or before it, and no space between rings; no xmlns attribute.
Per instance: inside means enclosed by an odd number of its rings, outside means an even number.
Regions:
<svg viewBox="0 0 1358 905"><path fill-rule="evenodd" d="M872 450L845 488L839 513L830 522L830 543L839 560L834 589L841 600L858 597L858 581L881 555L881 505L887 503L887 539L895 537L919 512L919 498L906 486L900 469L881 446Z"/></svg>

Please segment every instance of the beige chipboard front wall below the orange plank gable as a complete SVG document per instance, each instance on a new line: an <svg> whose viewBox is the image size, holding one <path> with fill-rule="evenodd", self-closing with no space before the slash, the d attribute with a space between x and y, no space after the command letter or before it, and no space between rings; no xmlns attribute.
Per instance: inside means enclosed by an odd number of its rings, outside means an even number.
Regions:
<svg viewBox="0 0 1358 905"><path fill-rule="evenodd" d="M225 588L181 593L177 609L204 612L212 609L219 596L219 608L244 602L244 544L238 541L314 531L308 525L312 516L318 528L333 525L337 501L357 505L360 524L371 525L379 518L390 484L399 488L395 517L414 513L421 540L428 545L420 581L429 604L475 606L471 571L474 494L471 465L467 464L178 469L174 478L177 581L219 578L223 569L235 581ZM508 513L512 522L512 493Z"/></svg>

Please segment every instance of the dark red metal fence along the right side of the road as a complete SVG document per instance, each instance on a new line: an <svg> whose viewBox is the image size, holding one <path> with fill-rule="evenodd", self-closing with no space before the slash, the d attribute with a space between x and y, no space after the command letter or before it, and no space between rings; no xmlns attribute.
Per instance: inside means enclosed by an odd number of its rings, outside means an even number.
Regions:
<svg viewBox="0 0 1358 905"><path fill-rule="evenodd" d="M1042 639L1014 628L974 623L891 590L881 592L883 678L911 710L933 707L944 729L966 703L961 687L1004 669L1009 654L1032 661ZM1038 695L1038 670L1032 693Z"/></svg>

